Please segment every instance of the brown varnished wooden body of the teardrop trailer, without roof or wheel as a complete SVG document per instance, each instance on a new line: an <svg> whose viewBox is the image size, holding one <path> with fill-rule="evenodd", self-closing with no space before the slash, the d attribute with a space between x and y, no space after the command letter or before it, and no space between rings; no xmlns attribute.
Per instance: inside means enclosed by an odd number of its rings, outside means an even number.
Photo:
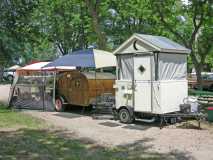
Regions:
<svg viewBox="0 0 213 160"><path fill-rule="evenodd" d="M58 94L69 104L88 106L96 96L104 93L115 95L113 79L87 79L79 72L66 72L58 79Z"/></svg>

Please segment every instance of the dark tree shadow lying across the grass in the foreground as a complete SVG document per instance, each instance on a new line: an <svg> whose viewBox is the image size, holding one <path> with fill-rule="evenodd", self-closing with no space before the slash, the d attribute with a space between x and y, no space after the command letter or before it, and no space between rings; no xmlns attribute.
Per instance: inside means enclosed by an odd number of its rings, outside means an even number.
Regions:
<svg viewBox="0 0 213 160"><path fill-rule="evenodd" d="M69 134L67 134L69 135ZM106 148L90 139L68 137L63 131L19 129L0 132L0 159L21 160L108 160L108 159L188 159L185 153L150 152L151 139ZM75 137L73 135L73 137ZM128 137L127 137L128 138ZM131 138L131 137L129 137ZM178 156L177 156L178 155ZM185 158L185 159L184 159Z"/></svg>

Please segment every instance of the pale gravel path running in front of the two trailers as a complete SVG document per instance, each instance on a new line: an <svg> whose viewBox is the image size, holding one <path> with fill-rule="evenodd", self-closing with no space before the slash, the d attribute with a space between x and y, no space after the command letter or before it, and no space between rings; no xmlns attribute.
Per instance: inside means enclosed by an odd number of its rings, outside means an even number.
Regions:
<svg viewBox="0 0 213 160"><path fill-rule="evenodd" d="M99 145L140 146L158 153L179 154L178 159L213 160L213 133L209 130L180 129L175 126L159 129L139 122L137 125L125 125L73 113L26 113L74 132L79 138L89 138Z"/></svg>

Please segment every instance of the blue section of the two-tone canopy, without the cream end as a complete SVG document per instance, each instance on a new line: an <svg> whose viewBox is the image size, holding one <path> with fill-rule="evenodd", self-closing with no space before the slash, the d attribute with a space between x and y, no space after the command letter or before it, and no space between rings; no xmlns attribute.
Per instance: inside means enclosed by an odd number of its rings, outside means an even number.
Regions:
<svg viewBox="0 0 213 160"><path fill-rule="evenodd" d="M96 67L93 49L72 52L56 59L43 68L57 66Z"/></svg>

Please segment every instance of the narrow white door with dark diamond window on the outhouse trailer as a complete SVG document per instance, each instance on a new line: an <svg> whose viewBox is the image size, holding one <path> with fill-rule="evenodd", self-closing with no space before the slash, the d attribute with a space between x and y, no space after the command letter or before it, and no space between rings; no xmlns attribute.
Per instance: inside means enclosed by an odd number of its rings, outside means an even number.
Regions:
<svg viewBox="0 0 213 160"><path fill-rule="evenodd" d="M134 57L134 110L151 112L151 57Z"/></svg>

